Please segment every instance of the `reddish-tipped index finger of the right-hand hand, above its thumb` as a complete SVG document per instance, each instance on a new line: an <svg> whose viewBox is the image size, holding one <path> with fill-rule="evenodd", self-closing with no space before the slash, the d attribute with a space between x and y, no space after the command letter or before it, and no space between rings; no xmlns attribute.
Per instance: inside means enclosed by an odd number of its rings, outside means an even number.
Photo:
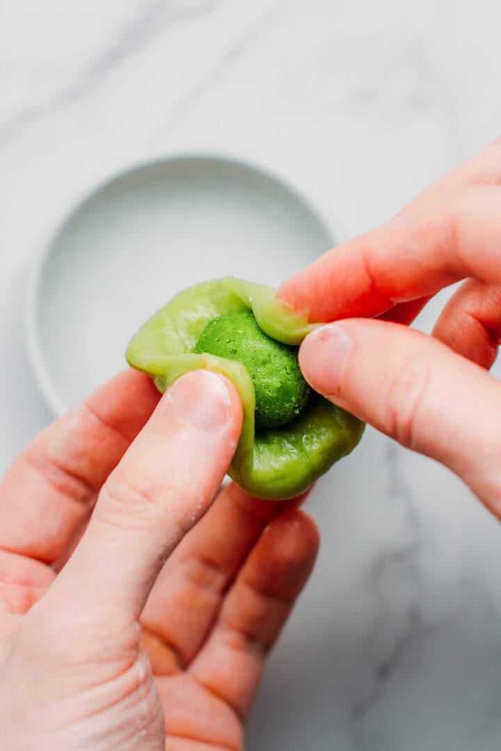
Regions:
<svg viewBox="0 0 501 751"><path fill-rule="evenodd" d="M418 205L334 248L277 296L310 322L381 315L475 277L501 283L501 187L475 186Z"/></svg>

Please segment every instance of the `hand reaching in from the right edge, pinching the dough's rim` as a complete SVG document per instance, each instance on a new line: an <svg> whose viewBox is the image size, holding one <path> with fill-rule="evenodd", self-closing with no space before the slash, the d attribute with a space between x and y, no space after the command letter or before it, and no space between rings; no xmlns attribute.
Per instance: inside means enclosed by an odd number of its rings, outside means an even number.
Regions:
<svg viewBox="0 0 501 751"><path fill-rule="evenodd" d="M343 319L301 345L312 387L444 463L498 517L501 385L485 370L501 337L500 181L498 140L278 292L310 321ZM432 337L399 325L460 279Z"/></svg>

